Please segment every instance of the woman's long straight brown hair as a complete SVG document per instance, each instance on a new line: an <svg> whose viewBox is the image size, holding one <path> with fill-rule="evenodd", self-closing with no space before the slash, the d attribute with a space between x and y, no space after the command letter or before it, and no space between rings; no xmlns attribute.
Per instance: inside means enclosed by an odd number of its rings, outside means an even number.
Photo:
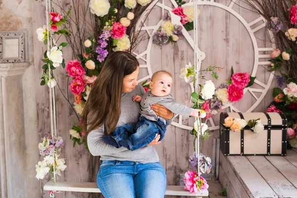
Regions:
<svg viewBox="0 0 297 198"><path fill-rule="evenodd" d="M113 52L105 60L83 110L81 124L85 137L104 123L107 135L114 131L121 114L124 77L138 66L136 57L124 51Z"/></svg>

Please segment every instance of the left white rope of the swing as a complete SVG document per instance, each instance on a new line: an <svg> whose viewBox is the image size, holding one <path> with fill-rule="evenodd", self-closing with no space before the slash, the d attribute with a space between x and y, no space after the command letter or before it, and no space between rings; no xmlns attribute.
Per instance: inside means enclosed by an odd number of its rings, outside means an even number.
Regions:
<svg viewBox="0 0 297 198"><path fill-rule="evenodd" d="M50 29L49 29L49 0L46 0L46 19L47 19L47 37L48 37L48 51L50 51L49 49L49 33L50 33ZM51 89L53 90L53 88L51 88L51 69L50 69L50 65L48 63L48 67L49 67L49 114L50 114L50 132L51 132L51 138L54 141L54 135L53 135L53 125L55 123L55 121L53 120L52 117L52 96L51 96ZM54 104L55 105L55 104ZM55 149L55 148L54 148ZM55 154L53 153L53 179L56 182L55 179Z"/></svg>

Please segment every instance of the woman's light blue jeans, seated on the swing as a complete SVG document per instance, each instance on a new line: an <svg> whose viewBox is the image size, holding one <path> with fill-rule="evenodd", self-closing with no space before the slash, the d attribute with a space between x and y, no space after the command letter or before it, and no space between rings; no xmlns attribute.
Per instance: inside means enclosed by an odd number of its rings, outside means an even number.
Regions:
<svg viewBox="0 0 297 198"><path fill-rule="evenodd" d="M104 198L164 198L166 174L160 162L103 160L97 184Z"/></svg>

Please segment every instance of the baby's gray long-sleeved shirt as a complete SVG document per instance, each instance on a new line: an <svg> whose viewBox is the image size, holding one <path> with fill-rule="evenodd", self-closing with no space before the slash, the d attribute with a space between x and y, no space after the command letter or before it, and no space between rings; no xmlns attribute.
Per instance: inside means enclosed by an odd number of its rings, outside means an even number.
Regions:
<svg viewBox="0 0 297 198"><path fill-rule="evenodd" d="M140 105L140 114L141 116L147 118L148 120L157 121L158 118L165 121L164 118L161 118L155 114L155 112L151 109L150 105L152 104L161 104L171 110L173 113L180 114L183 116L190 117L190 113L194 110L194 108L190 108L184 104L180 104L172 98L169 94L164 97L157 97L150 93L150 91L146 92L143 96Z"/></svg>

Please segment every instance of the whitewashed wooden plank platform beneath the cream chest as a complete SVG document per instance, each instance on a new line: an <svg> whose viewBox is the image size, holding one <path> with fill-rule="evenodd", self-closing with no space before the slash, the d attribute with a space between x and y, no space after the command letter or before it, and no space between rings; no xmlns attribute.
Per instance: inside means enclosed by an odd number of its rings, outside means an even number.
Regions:
<svg viewBox="0 0 297 198"><path fill-rule="evenodd" d="M287 156L228 156L219 180L229 198L297 198L297 149Z"/></svg>

